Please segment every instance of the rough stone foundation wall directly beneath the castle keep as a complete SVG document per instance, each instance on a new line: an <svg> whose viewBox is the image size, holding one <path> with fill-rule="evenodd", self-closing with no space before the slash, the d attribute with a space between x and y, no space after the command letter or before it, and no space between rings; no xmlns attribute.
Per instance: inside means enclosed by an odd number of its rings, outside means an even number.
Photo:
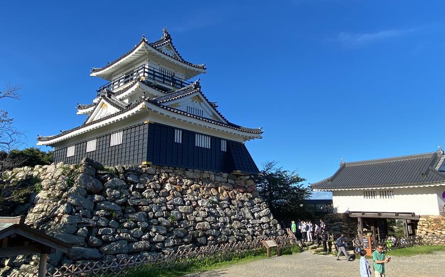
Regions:
<svg viewBox="0 0 445 277"><path fill-rule="evenodd" d="M16 214L28 210L25 224L73 246L67 256L49 256L54 266L285 233L249 176L145 165L104 168L89 159L6 174L8 181L26 176L40 178L42 190ZM26 261L12 257L3 265Z"/></svg>

